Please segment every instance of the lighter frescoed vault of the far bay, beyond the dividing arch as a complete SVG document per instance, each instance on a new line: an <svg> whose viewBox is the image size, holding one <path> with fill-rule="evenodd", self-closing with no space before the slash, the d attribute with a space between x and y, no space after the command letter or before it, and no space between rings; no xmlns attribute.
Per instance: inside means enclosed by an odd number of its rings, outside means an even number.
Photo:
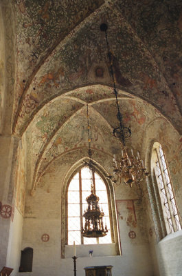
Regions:
<svg viewBox="0 0 182 276"><path fill-rule="evenodd" d="M68 98L60 97L59 101L53 100L47 103L28 128L32 136L34 181L40 179L54 159L67 155L70 151L88 147L87 103L79 101L76 103L75 91L73 91L74 100L71 96L69 93ZM126 144L141 150L148 124L160 118L161 114L143 100L120 97L119 101L124 124L130 126L132 131L132 136ZM89 103L91 147L94 151L98 150L109 155L117 155L120 152L120 141L113 137L113 128L118 126L116 114L114 98Z"/></svg>

